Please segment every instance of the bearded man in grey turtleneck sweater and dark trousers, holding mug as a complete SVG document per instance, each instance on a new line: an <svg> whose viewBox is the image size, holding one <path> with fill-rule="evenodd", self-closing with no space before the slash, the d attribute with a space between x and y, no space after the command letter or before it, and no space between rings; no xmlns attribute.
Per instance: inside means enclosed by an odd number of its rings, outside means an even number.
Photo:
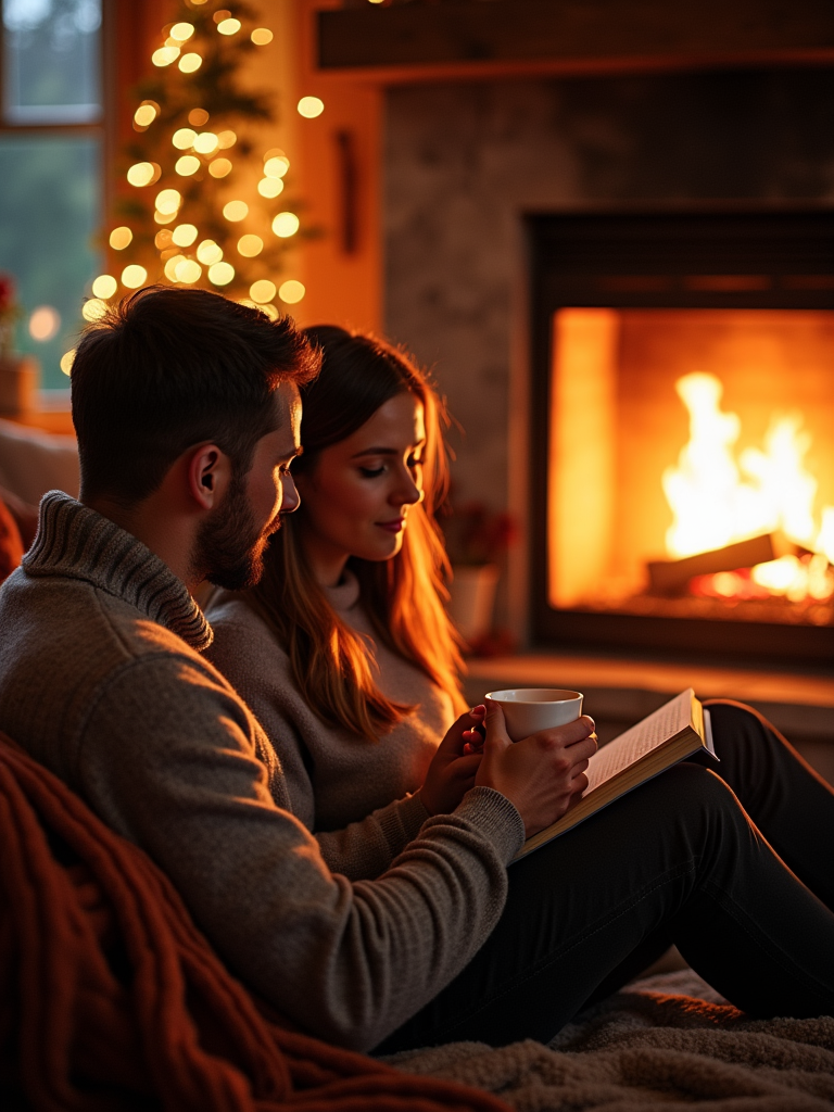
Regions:
<svg viewBox="0 0 834 1112"><path fill-rule="evenodd" d="M585 783L588 718L512 745L497 712L453 814L394 845L374 881L329 873L266 735L200 655L211 632L192 597L205 579L254 583L297 506L297 386L316 367L289 320L198 290L142 291L87 330L80 502L46 496L0 592L0 728L142 846L229 966L320 1037L547 1037L672 939L742 1006L825 1010L834 916L704 770L673 770L508 880L525 833ZM471 724L445 738L449 768Z"/></svg>

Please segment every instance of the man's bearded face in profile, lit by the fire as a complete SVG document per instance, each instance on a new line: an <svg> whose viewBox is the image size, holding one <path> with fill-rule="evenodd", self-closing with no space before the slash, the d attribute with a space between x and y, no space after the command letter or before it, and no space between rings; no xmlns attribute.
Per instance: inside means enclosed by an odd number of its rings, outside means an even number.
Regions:
<svg viewBox="0 0 834 1112"><path fill-rule="evenodd" d="M289 471L300 450L298 388L285 383L274 404L277 428L258 440L251 467L245 475L232 475L226 497L197 535L195 565L209 583L228 590L258 583L269 537L280 528L281 515L298 508Z"/></svg>

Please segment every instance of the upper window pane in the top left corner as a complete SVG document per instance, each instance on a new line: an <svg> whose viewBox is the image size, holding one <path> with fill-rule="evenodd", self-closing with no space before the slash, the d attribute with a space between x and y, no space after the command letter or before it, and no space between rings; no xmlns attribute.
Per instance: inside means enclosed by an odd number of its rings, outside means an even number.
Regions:
<svg viewBox="0 0 834 1112"><path fill-rule="evenodd" d="M9 123L101 117L101 0L2 0Z"/></svg>

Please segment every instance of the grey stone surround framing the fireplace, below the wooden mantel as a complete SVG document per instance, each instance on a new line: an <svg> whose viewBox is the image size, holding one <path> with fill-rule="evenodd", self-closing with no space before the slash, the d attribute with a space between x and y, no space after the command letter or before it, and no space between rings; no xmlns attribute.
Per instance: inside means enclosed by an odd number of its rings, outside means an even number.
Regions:
<svg viewBox="0 0 834 1112"><path fill-rule="evenodd" d="M453 437L458 496L509 508L526 538L525 215L733 206L830 211L834 69L397 86L386 92L383 165L386 329L434 366L465 429ZM529 563L523 542L509 554L497 615L525 649L535 647ZM549 682L568 682L558 656L536 659L537 682L545 679L543 668ZM530 683L519 678L519 665L524 671L523 659L506 667L475 663L473 697L476 688L500 686L502 677L507 685ZM785 659L784 672L791 671ZM658 677L657 668L652 675ZM807 737L834 737L830 676L831 668L827 678L803 677L813 691L793 695L783 677L785 706L815 708L800 727ZM596 676L596 689L679 689L677 676L604 678ZM733 693L732 676L712 679L704 694ZM609 716L625 723L639 714L612 708ZM790 729L792 716L782 724Z"/></svg>

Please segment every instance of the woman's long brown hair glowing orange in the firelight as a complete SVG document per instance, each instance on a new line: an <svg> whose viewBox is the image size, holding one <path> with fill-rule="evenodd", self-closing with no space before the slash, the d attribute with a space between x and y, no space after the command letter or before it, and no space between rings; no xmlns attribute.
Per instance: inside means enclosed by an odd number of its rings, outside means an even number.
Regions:
<svg viewBox="0 0 834 1112"><path fill-rule="evenodd" d="M435 522L448 487L443 403L425 374L384 340L335 326L308 328L307 336L324 359L319 377L301 390L304 456L294 465L297 473L312 471L324 448L350 436L396 395L408 391L423 403L425 496L408 512L403 547L388 560L351 557L348 567L359 580L376 637L463 709L459 642L444 608L448 558ZM246 597L287 652L307 704L325 722L376 741L415 708L383 695L366 639L341 619L316 582L294 520L302 514L304 503L284 518L264 576Z"/></svg>

